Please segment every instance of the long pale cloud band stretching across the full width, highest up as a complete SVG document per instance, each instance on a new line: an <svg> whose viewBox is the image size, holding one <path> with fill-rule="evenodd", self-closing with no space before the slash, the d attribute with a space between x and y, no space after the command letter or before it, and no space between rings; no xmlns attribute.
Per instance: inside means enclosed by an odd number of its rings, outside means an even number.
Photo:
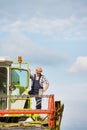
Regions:
<svg viewBox="0 0 87 130"><path fill-rule="evenodd" d="M6 19L5 19L6 21ZM8 19L7 19L8 21ZM60 35L65 39L73 39L79 37L83 39L87 35L87 17L76 18L70 16L66 19L45 19L45 18L31 18L31 19L18 19L15 21L5 22L0 19L0 31L15 32L15 31L26 31L26 32L38 32L46 35ZM85 35L83 35L85 34Z"/></svg>

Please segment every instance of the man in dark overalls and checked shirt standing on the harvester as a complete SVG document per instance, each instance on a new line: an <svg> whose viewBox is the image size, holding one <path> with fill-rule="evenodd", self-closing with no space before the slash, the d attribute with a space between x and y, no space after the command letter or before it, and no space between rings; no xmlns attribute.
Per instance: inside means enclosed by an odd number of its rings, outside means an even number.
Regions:
<svg viewBox="0 0 87 130"><path fill-rule="evenodd" d="M30 78L32 80L32 86L31 86L31 90L29 91L29 95L39 95L40 90L42 90L42 93L44 93L48 89L49 82L42 74L41 67L37 67L36 74L30 75ZM36 100L36 109L41 109L42 98L35 97L35 100Z"/></svg>

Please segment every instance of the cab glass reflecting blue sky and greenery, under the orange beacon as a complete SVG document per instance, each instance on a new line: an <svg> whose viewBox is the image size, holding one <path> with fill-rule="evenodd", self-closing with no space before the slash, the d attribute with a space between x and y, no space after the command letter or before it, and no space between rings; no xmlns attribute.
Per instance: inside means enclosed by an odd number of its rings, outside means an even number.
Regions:
<svg viewBox="0 0 87 130"><path fill-rule="evenodd" d="M11 70L11 85L14 86L12 95L20 95L28 87L28 71L23 69Z"/></svg>

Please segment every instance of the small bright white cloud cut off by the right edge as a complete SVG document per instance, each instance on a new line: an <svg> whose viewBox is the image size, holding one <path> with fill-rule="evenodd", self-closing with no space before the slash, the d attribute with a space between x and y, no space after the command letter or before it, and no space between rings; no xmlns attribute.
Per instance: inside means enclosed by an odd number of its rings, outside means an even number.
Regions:
<svg viewBox="0 0 87 130"><path fill-rule="evenodd" d="M87 72L87 56L79 56L68 69L70 73Z"/></svg>

